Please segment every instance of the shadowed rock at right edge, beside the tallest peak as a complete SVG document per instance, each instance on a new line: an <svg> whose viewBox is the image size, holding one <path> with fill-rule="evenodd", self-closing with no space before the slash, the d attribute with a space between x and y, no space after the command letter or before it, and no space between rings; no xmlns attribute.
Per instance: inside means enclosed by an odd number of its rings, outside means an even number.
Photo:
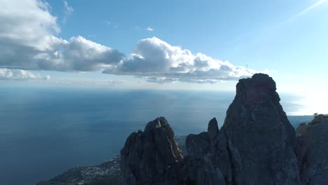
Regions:
<svg viewBox="0 0 328 185"><path fill-rule="evenodd" d="M296 155L302 184L328 184L328 118L316 116L297 128Z"/></svg>

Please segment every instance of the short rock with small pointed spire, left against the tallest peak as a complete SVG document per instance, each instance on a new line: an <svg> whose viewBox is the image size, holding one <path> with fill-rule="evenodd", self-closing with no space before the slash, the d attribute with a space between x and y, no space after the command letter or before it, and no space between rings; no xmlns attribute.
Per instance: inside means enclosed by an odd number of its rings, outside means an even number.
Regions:
<svg viewBox="0 0 328 185"><path fill-rule="evenodd" d="M189 155L189 177L196 184L231 183L231 161L226 150L226 137L219 131L217 120L208 123L208 131L186 137Z"/></svg>

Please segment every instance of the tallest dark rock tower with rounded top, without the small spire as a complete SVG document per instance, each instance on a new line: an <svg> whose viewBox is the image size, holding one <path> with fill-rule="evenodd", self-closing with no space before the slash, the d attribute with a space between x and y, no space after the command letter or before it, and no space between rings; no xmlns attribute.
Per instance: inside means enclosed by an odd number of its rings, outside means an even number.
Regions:
<svg viewBox="0 0 328 185"><path fill-rule="evenodd" d="M237 84L222 126L234 184L299 184L294 128L275 90L266 74Z"/></svg>

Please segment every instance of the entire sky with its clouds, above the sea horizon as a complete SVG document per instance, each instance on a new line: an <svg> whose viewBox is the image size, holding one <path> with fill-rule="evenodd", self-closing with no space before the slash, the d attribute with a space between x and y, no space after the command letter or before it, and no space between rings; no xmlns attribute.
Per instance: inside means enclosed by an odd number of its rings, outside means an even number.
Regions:
<svg viewBox="0 0 328 185"><path fill-rule="evenodd" d="M0 7L3 86L234 90L239 78L262 72L279 92L328 103L326 0L0 0Z"/></svg>

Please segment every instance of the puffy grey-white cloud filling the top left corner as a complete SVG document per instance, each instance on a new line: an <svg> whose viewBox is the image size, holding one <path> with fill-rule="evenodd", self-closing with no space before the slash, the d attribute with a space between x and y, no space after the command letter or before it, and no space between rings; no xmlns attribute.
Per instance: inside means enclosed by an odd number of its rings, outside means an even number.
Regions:
<svg viewBox="0 0 328 185"><path fill-rule="evenodd" d="M1 0L0 3L2 53L13 55L22 47L28 47L32 52L53 47L57 40L53 34L59 33L60 27L56 18L50 15L48 4L36 0Z"/></svg>

